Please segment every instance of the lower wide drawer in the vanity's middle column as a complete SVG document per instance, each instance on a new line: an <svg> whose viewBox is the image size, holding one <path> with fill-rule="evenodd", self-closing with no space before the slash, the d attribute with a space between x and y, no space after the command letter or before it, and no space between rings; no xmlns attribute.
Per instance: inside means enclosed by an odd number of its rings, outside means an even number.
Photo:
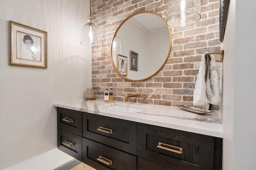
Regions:
<svg viewBox="0 0 256 170"><path fill-rule="evenodd" d="M83 162L97 170L136 170L136 156L83 138Z"/></svg>

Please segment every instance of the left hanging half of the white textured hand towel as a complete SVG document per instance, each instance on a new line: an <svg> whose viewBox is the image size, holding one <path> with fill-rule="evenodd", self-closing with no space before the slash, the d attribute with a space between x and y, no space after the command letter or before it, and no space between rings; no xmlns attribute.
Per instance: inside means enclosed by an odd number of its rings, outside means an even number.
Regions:
<svg viewBox="0 0 256 170"><path fill-rule="evenodd" d="M194 105L204 106L208 103L208 99L206 95L205 78L206 78L206 59L205 59L205 54L203 54L197 80L196 80L196 86L194 90L194 98L193 98Z"/></svg>

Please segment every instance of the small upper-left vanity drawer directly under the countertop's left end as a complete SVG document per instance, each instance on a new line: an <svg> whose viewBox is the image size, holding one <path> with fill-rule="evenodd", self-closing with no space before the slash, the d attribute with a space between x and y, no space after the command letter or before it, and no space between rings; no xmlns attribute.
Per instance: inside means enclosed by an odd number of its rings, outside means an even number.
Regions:
<svg viewBox="0 0 256 170"><path fill-rule="evenodd" d="M82 112L57 108L58 128L82 136Z"/></svg>

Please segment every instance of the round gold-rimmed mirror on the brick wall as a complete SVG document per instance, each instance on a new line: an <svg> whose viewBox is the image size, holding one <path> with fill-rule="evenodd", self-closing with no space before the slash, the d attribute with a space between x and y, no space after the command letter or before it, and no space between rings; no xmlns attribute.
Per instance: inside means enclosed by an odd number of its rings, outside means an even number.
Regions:
<svg viewBox="0 0 256 170"><path fill-rule="evenodd" d="M164 66L171 42L170 29L161 16L150 11L136 12L120 23L112 38L112 64L127 80L145 80Z"/></svg>

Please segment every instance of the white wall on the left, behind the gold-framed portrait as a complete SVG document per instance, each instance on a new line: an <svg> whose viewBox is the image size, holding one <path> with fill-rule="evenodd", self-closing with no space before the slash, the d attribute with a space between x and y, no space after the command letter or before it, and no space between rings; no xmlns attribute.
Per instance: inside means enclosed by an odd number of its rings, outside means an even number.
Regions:
<svg viewBox="0 0 256 170"><path fill-rule="evenodd" d="M53 102L85 97L90 50L80 45L90 1L0 0L0 169L57 147ZM48 32L48 68L8 65L9 20Z"/></svg>

